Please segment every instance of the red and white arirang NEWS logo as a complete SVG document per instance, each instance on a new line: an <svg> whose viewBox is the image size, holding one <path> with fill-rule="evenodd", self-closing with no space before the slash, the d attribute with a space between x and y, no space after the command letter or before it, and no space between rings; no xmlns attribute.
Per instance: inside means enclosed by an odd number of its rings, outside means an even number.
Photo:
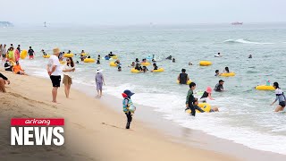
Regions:
<svg viewBox="0 0 286 161"><path fill-rule="evenodd" d="M11 119L11 145L62 146L63 118Z"/></svg>

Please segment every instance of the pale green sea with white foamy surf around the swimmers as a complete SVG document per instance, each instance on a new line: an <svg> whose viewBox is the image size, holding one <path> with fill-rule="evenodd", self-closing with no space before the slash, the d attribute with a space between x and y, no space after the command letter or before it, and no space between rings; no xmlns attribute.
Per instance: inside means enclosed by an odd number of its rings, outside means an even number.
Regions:
<svg viewBox="0 0 286 161"><path fill-rule="evenodd" d="M133 102L151 106L162 117L179 125L204 131L219 138L231 140L249 148L286 154L286 114L273 113L270 106L273 91L254 89L259 84L278 81L286 90L285 51L286 24L232 25L186 25L186 26L132 26L132 27L72 27L37 28L14 27L0 29L0 43L21 44L21 49L31 46L36 51L35 60L21 60L29 74L46 75L48 54L52 48L80 53L85 50L92 58L104 57L110 51L119 55L122 72L110 67L109 61L101 64L76 65L73 81L95 88L97 67L105 76L104 92L122 97L124 89L136 94ZM214 57L218 52L223 57ZM164 67L159 73L131 73L128 65L135 58L155 55L157 65ZM172 55L176 63L164 58ZM252 55L252 59L248 59ZM79 55L73 57L74 61ZM213 65L202 67L201 60ZM191 62L193 65L188 65ZM216 69L228 66L235 77L214 77ZM147 66L152 70L151 66ZM191 119L184 113L185 99L189 89L179 85L176 79L185 68L189 78L197 83L197 89L214 88L223 79L225 92L213 92L211 106L219 107L219 113L197 114Z"/></svg>

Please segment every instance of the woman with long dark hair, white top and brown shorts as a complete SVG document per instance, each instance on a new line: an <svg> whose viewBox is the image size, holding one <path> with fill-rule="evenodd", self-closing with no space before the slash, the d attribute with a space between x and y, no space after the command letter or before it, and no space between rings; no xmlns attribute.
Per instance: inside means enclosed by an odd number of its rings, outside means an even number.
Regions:
<svg viewBox="0 0 286 161"><path fill-rule="evenodd" d="M64 93L65 97L70 97L71 90L71 74L75 71L74 63L71 57L66 58L66 64L63 65L63 84L64 84Z"/></svg>

